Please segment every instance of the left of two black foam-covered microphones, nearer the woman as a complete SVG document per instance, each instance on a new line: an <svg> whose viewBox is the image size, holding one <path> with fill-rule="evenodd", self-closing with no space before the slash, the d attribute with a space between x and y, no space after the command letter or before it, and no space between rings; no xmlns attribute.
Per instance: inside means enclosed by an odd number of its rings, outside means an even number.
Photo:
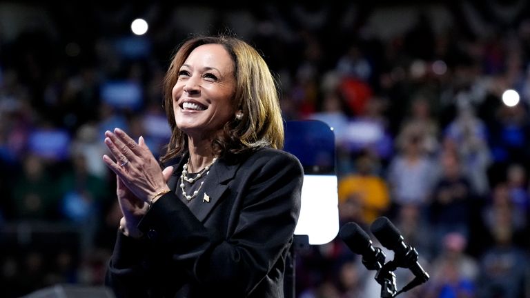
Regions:
<svg viewBox="0 0 530 298"><path fill-rule="evenodd" d="M385 255L381 248L374 248L370 237L354 222L344 224L339 231L339 237L346 246L357 255L362 255L362 264L368 270L380 270L384 264Z"/></svg>

